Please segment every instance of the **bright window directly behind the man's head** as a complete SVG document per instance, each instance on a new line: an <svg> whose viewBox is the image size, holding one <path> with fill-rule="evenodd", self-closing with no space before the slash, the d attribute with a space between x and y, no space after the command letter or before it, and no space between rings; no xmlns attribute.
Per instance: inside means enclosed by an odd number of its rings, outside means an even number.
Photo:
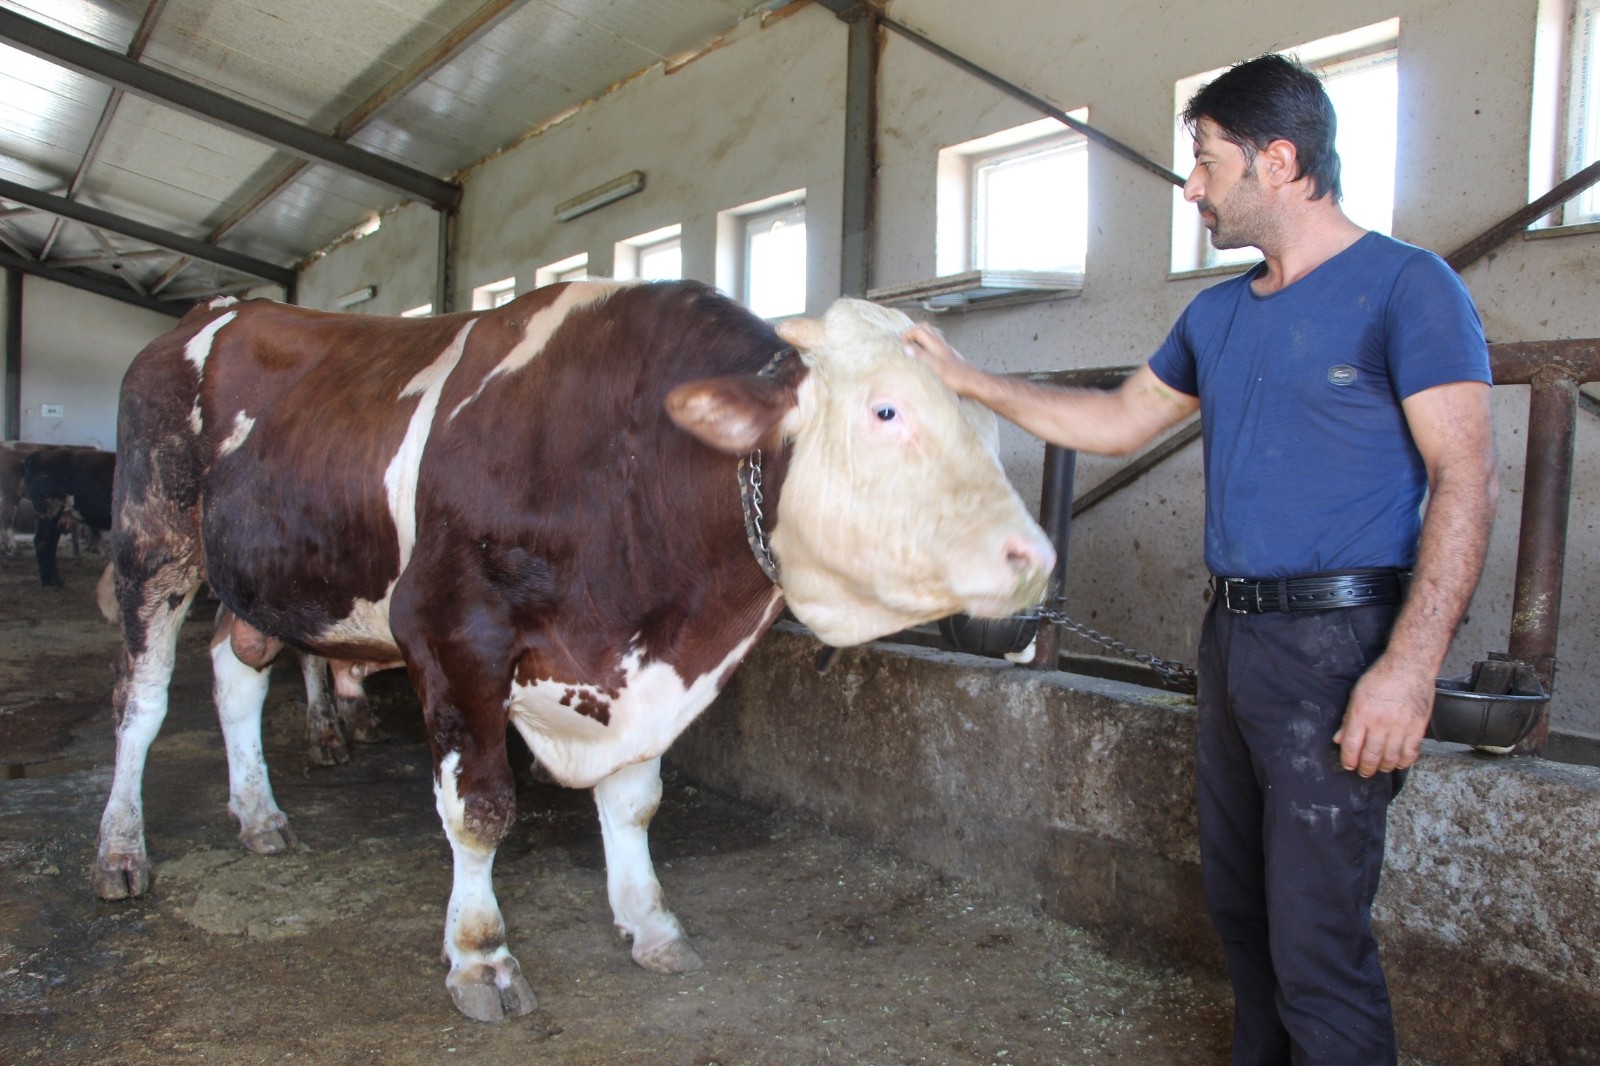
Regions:
<svg viewBox="0 0 1600 1066"><path fill-rule="evenodd" d="M1381 234L1394 232L1398 32L1398 19L1389 19L1286 51L1322 75L1328 99L1333 101L1339 123L1334 146L1339 152L1344 213L1357 226ZM1182 115L1189 98L1224 69L1181 80L1174 93L1174 115ZM1181 117L1174 126L1173 168L1187 174L1194 170L1194 138ZM1184 200L1182 189L1174 192L1173 203L1174 272L1230 267L1261 258L1254 248L1213 248L1210 234L1195 206Z"/></svg>

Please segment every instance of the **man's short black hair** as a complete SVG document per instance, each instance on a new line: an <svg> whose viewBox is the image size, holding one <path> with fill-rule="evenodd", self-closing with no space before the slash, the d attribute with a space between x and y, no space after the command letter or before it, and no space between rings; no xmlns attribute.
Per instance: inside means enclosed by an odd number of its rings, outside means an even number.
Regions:
<svg viewBox="0 0 1600 1066"><path fill-rule="evenodd" d="M1184 107L1190 133L1202 118L1216 123L1222 138L1245 150L1254 163L1256 152L1274 141L1288 141L1299 158L1294 179L1310 179L1310 198L1333 194L1338 203L1339 152L1333 146L1338 120L1322 78L1288 56L1270 53L1229 67L1200 88Z"/></svg>

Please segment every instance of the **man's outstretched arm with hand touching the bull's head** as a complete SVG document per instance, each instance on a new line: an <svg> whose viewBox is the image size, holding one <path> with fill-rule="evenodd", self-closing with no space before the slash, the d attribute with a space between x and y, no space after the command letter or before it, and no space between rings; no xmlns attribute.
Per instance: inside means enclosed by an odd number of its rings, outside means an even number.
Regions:
<svg viewBox="0 0 1600 1066"><path fill-rule="evenodd" d="M1149 365L1114 391L1062 389L986 373L930 325L912 327L902 339L906 351L931 367L952 392L1062 448L1126 455L1200 407L1195 397L1168 387Z"/></svg>

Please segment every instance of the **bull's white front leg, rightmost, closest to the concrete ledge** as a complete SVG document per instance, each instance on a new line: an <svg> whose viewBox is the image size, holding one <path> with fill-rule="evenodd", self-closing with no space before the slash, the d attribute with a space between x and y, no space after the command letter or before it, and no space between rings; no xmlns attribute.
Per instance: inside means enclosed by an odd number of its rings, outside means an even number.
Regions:
<svg viewBox="0 0 1600 1066"><path fill-rule="evenodd" d="M666 908L650 861L650 820L661 804L661 759L622 767L594 789L605 839L606 893L634 962L656 973L688 973L704 960Z"/></svg>

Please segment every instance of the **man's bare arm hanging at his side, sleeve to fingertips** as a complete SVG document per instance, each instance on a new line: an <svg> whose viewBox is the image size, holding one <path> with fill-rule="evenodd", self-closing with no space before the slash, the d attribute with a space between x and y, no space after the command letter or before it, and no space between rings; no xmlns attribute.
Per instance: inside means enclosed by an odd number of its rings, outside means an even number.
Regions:
<svg viewBox="0 0 1600 1066"><path fill-rule="evenodd" d="M1427 466L1416 571L1389 648L1357 682L1333 738L1344 768L1366 778L1421 754L1434 679L1483 571L1499 498L1490 394L1488 384L1456 381L1402 403Z"/></svg>

